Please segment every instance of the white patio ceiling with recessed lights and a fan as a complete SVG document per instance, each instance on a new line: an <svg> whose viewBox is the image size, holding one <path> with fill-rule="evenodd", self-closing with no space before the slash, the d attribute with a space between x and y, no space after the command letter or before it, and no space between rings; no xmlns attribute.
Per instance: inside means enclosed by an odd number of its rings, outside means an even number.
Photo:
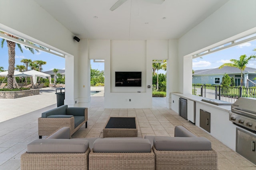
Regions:
<svg viewBox="0 0 256 170"><path fill-rule="evenodd" d="M178 39L228 0L34 0L74 35L88 39ZM165 19L164 19L165 18Z"/></svg>

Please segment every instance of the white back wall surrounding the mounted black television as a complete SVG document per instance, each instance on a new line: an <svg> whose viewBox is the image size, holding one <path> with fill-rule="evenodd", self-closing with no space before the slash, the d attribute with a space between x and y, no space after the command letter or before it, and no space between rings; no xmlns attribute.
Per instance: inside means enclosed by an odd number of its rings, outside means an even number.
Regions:
<svg viewBox="0 0 256 170"><path fill-rule="evenodd" d="M85 51L84 49L87 47L88 51ZM105 108L152 108L152 60L168 59L168 40L111 41L90 39L88 44L80 45L79 51L80 57L86 58L83 60L104 59ZM88 54L87 57L85 53ZM116 71L141 71L142 86L116 87ZM82 67L79 67L79 72L87 74L87 71ZM80 79L83 78L80 77ZM151 88L147 88L148 85ZM89 81L86 87L88 90ZM88 106L86 101L89 102L89 100L82 102L81 96L83 96L82 98L90 98L90 94L83 92L83 90L81 92L80 106Z"/></svg>

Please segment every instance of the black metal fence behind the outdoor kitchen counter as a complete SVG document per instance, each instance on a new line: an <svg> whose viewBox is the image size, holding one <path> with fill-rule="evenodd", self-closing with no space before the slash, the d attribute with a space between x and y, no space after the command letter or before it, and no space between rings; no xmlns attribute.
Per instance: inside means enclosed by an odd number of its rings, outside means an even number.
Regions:
<svg viewBox="0 0 256 170"><path fill-rule="evenodd" d="M256 98L256 88L246 88L244 86L222 87L220 85L193 84L192 94L234 103L240 97Z"/></svg>

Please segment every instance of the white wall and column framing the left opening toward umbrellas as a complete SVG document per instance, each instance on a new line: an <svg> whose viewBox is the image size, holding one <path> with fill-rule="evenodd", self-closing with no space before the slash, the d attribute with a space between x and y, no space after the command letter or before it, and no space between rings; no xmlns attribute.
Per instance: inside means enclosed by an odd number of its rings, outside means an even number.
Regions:
<svg viewBox="0 0 256 170"><path fill-rule="evenodd" d="M66 100L78 98L78 42L73 34L33 0L0 0L0 30L65 54ZM68 80L68 81L67 81Z"/></svg>

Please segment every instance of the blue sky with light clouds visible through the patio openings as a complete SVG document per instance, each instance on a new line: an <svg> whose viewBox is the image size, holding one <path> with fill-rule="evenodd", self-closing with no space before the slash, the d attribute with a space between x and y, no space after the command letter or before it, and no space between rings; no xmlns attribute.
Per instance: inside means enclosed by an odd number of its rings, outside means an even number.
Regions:
<svg viewBox="0 0 256 170"><path fill-rule="evenodd" d="M256 51L252 51L256 48L256 41L250 41L235 47L217 51L209 55L205 55L202 58L198 57L193 59L193 70L201 70L208 68L216 68L224 63L230 62L230 59L239 59L241 55L254 55ZM40 53L35 53L34 55L30 51L23 48L23 53L20 52L18 47L16 47L16 57L15 57L15 66L23 65L20 61L22 59L31 59L46 61L46 64L42 66L42 71L49 71L53 68L65 69L65 59L40 51ZM93 63L91 61L92 68L98 70L104 70L104 63ZM3 48L0 48L0 66L3 66L5 70L8 69L8 48L6 42ZM256 68L256 60L251 60L248 67ZM163 70L160 70L159 73L164 73Z"/></svg>

